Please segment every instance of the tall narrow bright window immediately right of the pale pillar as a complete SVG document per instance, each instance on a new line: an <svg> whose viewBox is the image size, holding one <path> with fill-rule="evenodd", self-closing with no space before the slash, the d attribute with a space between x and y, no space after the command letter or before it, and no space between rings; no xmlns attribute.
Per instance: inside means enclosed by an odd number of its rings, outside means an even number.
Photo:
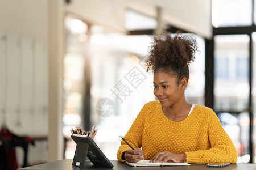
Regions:
<svg viewBox="0 0 256 170"><path fill-rule="evenodd" d="M63 77L63 134L70 138L70 129L83 125L82 109L85 89L86 53L88 24L70 16L65 17L66 52L64 54ZM65 158L73 158L76 143L67 140Z"/></svg>

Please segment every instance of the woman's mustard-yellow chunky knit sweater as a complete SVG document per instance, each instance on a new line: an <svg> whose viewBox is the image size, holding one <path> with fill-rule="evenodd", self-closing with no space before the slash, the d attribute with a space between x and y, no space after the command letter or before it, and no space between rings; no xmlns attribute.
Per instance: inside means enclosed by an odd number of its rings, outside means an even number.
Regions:
<svg viewBox="0 0 256 170"><path fill-rule="evenodd" d="M237 162L237 151L212 109L195 105L187 118L169 120L159 101L144 105L124 137L134 148L142 148L144 159L157 152L170 151L187 155L187 163ZM123 141L117 159L130 147Z"/></svg>

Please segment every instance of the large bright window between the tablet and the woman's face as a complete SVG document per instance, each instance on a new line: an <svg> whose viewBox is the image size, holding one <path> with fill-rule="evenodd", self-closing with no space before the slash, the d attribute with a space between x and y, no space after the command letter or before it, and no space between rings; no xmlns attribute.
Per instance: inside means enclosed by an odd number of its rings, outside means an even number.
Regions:
<svg viewBox="0 0 256 170"><path fill-rule="evenodd" d="M155 100L152 74L143 67L150 41L148 35L126 36L92 27L91 122L99 129L94 141L109 159L117 159L119 135L127 133L144 104ZM130 79L135 75L138 83ZM97 112L108 109L97 105L105 99L113 101L109 106L114 108L106 117Z"/></svg>

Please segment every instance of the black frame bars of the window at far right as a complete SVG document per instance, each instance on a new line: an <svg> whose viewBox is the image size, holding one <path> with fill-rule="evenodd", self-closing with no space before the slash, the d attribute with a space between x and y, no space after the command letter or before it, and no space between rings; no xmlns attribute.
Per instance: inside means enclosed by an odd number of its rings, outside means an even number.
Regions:
<svg viewBox="0 0 256 170"><path fill-rule="evenodd" d="M241 35L245 34L250 37L249 41L249 104L247 106L247 112L249 113L250 116L250 130L249 130L249 137L250 137L250 161L249 163L254 163L254 143L253 143L253 120L254 120L254 115L253 115L253 95L252 95L252 89L253 89L253 32L256 32L256 25L254 23L254 0L252 0L252 25L251 26L240 26L240 27L218 27L213 28L213 37L217 35ZM207 40L208 43L205 44L206 51L208 52L206 55L206 67L209 64L209 68L205 69L206 73L206 83L205 83L205 105L212 107L214 110L214 75L213 75L213 69L214 69L214 40ZM206 41L206 42L207 42ZM256 68L255 68L256 69ZM209 77L208 77L209 76ZM209 82L208 82L209 80ZM209 98L209 99L208 99ZM237 111L218 111L220 112L229 112L229 113L238 113ZM216 113L216 114L218 114ZM239 112L240 113L240 112Z"/></svg>

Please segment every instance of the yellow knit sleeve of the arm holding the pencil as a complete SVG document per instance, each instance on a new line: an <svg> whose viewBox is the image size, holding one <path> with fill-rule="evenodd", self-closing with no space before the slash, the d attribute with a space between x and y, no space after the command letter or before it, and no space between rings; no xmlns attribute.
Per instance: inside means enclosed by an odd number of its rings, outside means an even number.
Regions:
<svg viewBox="0 0 256 170"><path fill-rule="evenodd" d="M141 109L141 112L139 112L137 118L133 122L133 125L131 125L131 128L124 137L133 148L141 148L142 146L142 132L145 121L144 114L146 114L148 109L148 104L144 105L144 107ZM123 140L121 140L121 146L117 151L117 159L119 161L125 161L122 159L122 155L123 152L125 152L128 149L131 148Z"/></svg>

